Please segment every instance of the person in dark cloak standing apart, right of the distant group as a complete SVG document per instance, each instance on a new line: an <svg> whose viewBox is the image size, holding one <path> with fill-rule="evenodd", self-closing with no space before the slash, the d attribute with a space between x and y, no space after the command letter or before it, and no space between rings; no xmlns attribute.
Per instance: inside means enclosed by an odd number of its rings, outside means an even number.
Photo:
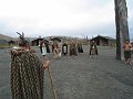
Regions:
<svg viewBox="0 0 133 99"><path fill-rule="evenodd" d="M98 55L98 47L96 47L96 43L94 41L92 41L90 43L90 58L94 58L94 55Z"/></svg>

